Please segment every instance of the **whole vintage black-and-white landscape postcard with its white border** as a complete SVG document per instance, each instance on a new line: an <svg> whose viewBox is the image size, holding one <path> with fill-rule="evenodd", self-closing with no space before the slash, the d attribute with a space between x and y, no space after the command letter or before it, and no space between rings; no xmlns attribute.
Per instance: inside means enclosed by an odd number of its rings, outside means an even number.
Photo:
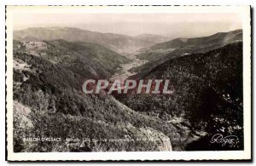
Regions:
<svg viewBox="0 0 256 166"><path fill-rule="evenodd" d="M250 159L250 6L6 11L9 160Z"/></svg>

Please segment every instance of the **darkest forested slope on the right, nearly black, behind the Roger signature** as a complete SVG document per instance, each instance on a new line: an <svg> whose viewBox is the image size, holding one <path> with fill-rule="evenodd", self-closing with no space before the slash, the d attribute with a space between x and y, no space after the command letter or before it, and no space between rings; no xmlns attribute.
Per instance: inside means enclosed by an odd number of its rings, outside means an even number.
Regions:
<svg viewBox="0 0 256 166"><path fill-rule="evenodd" d="M169 79L173 94L131 94L118 96L137 112L172 121L189 120L190 129L208 135L190 150L223 150L227 146L209 143L212 135L236 135L231 149L242 149L243 95L242 43L231 43L204 54L189 54L168 60L143 76L143 79ZM198 146L200 145L200 146ZM189 149L189 148L188 148Z"/></svg>

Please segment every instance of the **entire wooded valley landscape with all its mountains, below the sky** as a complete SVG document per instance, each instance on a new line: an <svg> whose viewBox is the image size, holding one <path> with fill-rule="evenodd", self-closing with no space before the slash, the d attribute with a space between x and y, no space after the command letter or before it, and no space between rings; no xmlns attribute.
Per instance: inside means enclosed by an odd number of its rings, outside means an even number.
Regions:
<svg viewBox="0 0 256 166"><path fill-rule="evenodd" d="M209 145L216 132L243 140L241 30L173 40L71 27L14 35L15 152L223 150ZM174 93L82 91L86 79L131 77L169 79ZM65 141L28 145L22 138L30 135Z"/></svg>

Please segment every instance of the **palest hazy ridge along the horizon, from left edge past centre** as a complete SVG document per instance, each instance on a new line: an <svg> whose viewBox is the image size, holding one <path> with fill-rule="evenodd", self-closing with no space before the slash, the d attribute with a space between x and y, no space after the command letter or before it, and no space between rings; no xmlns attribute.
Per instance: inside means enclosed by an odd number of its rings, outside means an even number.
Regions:
<svg viewBox="0 0 256 166"><path fill-rule="evenodd" d="M154 38L157 38L154 40ZM31 27L14 31L14 39L19 41L43 41L63 39L70 42L98 43L119 54L131 54L137 49L150 47L162 41L163 37L151 35L131 37L114 33L82 30L74 27Z"/></svg>

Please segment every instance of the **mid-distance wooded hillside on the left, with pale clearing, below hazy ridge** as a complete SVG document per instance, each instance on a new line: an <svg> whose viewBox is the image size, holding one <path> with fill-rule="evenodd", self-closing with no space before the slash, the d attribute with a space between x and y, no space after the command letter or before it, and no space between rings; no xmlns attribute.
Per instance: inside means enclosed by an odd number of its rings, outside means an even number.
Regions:
<svg viewBox="0 0 256 166"><path fill-rule="evenodd" d="M73 43L61 39L44 42L15 41L14 51L39 56L91 78L110 77L120 64L130 61L96 43Z"/></svg>

